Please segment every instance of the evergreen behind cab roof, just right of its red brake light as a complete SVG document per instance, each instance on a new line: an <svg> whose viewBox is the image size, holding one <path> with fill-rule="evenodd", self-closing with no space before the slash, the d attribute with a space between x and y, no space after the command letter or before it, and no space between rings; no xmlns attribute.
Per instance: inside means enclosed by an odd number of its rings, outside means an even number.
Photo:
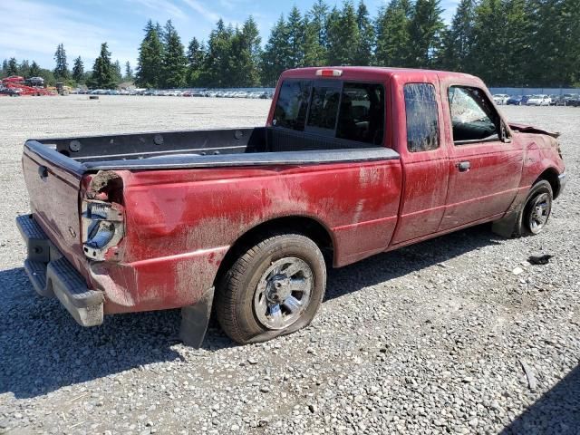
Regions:
<svg viewBox="0 0 580 435"><path fill-rule="evenodd" d="M328 62L332 65L353 65L361 43L357 16L353 3L347 0L343 9L333 11L328 16L326 35L328 38Z"/></svg>

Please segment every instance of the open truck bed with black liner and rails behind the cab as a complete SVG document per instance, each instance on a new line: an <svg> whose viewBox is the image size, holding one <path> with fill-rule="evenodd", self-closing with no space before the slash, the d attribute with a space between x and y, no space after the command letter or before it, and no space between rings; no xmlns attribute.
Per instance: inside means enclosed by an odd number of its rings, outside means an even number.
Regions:
<svg viewBox="0 0 580 435"><path fill-rule="evenodd" d="M27 150L76 173L100 169L179 169L316 164L398 159L384 147L369 148L302 131L272 127L163 131L27 140Z"/></svg>

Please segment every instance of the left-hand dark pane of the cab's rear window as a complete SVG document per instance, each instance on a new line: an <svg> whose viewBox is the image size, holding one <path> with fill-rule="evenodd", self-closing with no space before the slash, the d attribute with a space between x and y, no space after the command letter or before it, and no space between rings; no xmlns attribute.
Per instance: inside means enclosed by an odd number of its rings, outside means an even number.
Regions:
<svg viewBox="0 0 580 435"><path fill-rule="evenodd" d="M275 126L304 131L310 88L310 82L291 80L282 83L275 103Z"/></svg>

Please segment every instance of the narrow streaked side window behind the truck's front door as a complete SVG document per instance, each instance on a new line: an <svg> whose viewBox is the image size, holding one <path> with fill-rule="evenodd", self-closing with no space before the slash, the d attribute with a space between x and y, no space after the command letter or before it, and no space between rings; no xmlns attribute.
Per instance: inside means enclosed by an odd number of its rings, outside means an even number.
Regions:
<svg viewBox="0 0 580 435"><path fill-rule="evenodd" d="M407 149L411 152L439 148L439 120L435 86L409 83L404 86L407 114Z"/></svg>

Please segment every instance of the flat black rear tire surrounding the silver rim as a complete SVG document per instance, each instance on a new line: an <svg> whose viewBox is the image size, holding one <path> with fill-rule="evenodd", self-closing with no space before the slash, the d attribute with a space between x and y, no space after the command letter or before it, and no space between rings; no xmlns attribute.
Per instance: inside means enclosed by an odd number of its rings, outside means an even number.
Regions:
<svg viewBox="0 0 580 435"><path fill-rule="evenodd" d="M262 285L266 279L269 285L267 288L274 288L272 287L274 278L284 276L284 274L281 271L277 272L277 275L270 277L269 280L267 279L269 275L266 274L272 267L286 259L293 261L297 259L301 265L305 264L309 267L311 274L308 275L308 280L303 280L310 283L310 293L304 307L296 312L297 317L294 323L282 329L271 329L264 324L264 320L258 318L260 314L256 311L260 305L257 305L257 300L262 300L260 295L263 295L262 301L267 304L266 314L261 314L262 319L264 315L267 317L268 311L271 312L270 304L275 303L266 300L267 292L259 290L258 285L261 285L260 288L266 288ZM288 275L285 282L293 281L292 276L294 275ZM300 234L272 235L255 246L249 247L218 281L215 296L218 323L227 336L241 344L265 342L280 335L294 333L312 322L322 303L325 288L324 256L314 241ZM258 292L261 293L258 295ZM278 304L278 310L283 307L284 304ZM292 320L289 314L279 315L285 315L287 320Z"/></svg>

